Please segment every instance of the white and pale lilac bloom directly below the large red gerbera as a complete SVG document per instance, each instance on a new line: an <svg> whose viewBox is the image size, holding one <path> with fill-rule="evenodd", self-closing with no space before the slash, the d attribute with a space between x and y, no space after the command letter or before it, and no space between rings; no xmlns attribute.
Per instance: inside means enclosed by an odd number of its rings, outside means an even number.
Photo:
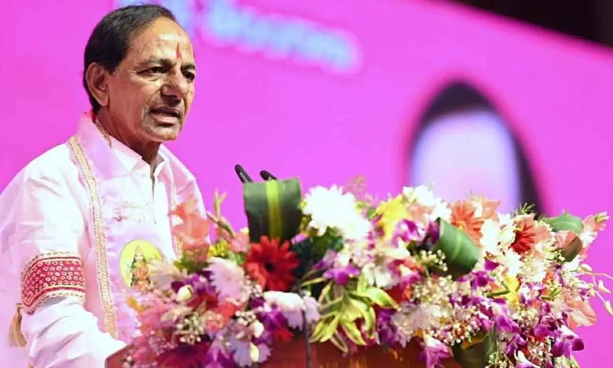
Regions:
<svg viewBox="0 0 613 368"><path fill-rule="evenodd" d="M296 293L266 291L264 300L269 305L276 305L287 318L287 324L291 328L302 329L304 324L303 313L307 316L307 323L319 320L319 304L313 297L305 296L303 299Z"/></svg>

